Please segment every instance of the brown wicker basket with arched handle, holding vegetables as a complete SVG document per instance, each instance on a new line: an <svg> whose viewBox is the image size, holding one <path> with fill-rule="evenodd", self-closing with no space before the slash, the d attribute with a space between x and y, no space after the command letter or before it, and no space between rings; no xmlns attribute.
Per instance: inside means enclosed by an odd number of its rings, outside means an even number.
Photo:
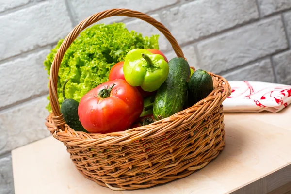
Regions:
<svg viewBox="0 0 291 194"><path fill-rule="evenodd" d="M230 96L228 82L213 73L214 90L194 106L150 125L109 134L77 132L65 124L57 96L58 71L65 51L79 33L110 16L142 19L160 30L178 57L183 52L171 33L154 18L128 9L106 10L83 20L68 34L50 70L52 113L46 126L63 142L86 178L112 190L134 190L183 178L206 166L225 146L222 102Z"/></svg>

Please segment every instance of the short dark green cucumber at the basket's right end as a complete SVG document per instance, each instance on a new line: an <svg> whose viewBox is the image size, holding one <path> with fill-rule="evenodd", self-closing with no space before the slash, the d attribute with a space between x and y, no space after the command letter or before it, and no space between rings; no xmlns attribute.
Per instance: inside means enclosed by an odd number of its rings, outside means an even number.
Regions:
<svg viewBox="0 0 291 194"><path fill-rule="evenodd" d="M212 90L212 77L205 70L196 70L189 80L189 106L193 106L195 103L207 97Z"/></svg>

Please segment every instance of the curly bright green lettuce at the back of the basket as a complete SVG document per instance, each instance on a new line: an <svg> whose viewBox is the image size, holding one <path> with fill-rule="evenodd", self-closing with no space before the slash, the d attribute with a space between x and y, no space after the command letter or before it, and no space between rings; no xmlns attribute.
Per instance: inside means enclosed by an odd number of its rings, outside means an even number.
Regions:
<svg viewBox="0 0 291 194"><path fill-rule="evenodd" d="M58 98L62 105L62 85L66 85L66 97L80 101L81 97L97 85L108 81L111 67L124 61L129 50L159 49L159 35L143 37L141 33L129 32L124 23L97 24L87 28L65 52L58 74ZM44 62L50 74L52 61L63 39L51 50ZM49 97L48 97L49 98ZM51 111L50 104L47 109Z"/></svg>

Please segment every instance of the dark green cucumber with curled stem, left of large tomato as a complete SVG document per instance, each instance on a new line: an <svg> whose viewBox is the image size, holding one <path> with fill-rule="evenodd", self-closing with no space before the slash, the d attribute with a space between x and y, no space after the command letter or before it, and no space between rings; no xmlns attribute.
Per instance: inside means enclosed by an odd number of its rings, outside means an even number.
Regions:
<svg viewBox="0 0 291 194"><path fill-rule="evenodd" d="M88 132L83 128L81 122L79 121L79 116L78 116L79 102L77 102L74 99L67 99L65 97L65 85L68 81L69 80L66 80L63 85L64 102L61 107L61 113L63 114L65 122L70 126L70 128L74 129L75 131Z"/></svg>

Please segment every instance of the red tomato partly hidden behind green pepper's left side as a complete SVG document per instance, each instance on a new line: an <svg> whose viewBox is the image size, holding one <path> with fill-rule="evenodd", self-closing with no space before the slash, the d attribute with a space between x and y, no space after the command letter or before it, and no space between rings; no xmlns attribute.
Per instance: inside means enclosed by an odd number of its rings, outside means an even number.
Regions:
<svg viewBox="0 0 291 194"><path fill-rule="evenodd" d="M111 68L111 70L109 72L109 77L108 77L109 81L112 81L115 79L125 80L124 73L123 73L123 64L124 64L124 61L121 61L121 62L118 62L117 64L113 65L113 67ZM138 89L138 91L141 93L141 95L143 97L149 97L155 93L155 92L147 92L147 91L143 90L140 86L138 86L136 88Z"/></svg>

